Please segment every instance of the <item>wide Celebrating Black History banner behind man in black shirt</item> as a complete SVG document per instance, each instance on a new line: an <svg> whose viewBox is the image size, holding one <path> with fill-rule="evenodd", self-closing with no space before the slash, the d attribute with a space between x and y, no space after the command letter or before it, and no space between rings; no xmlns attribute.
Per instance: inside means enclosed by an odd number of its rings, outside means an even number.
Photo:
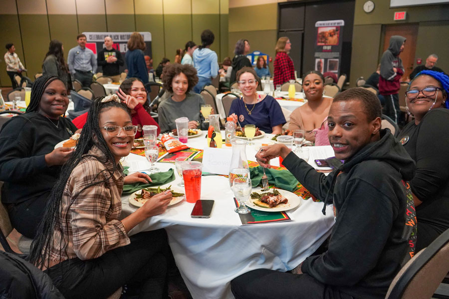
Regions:
<svg viewBox="0 0 449 299"><path fill-rule="evenodd" d="M119 50L122 54L123 60L125 60L125 52L128 51L128 39L133 32L83 32L86 35L87 43L86 47L91 49L95 56L97 53L104 48L104 38L110 36L114 44L112 47ZM139 32L142 34L145 42L144 54L152 57L151 52L151 33L150 32ZM107 57L105 57L107 58ZM127 68L126 60L125 65L120 67L120 72L123 72ZM98 69L97 72L100 70ZM102 70L101 70L102 71Z"/></svg>

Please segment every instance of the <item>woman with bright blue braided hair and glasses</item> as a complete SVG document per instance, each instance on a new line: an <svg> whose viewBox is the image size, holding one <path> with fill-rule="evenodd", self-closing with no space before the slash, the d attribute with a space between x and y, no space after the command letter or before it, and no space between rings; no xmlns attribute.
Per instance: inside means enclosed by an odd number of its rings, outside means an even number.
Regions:
<svg viewBox="0 0 449 299"><path fill-rule="evenodd" d="M402 145L416 162L410 181L417 215L416 252L449 228L449 77L420 72L406 92L408 113L415 121L399 134Z"/></svg>

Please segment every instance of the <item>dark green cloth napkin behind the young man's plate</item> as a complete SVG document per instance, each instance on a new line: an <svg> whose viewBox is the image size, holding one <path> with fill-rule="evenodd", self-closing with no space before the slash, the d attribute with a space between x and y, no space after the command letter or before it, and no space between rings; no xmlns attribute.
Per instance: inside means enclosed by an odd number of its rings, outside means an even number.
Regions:
<svg viewBox="0 0 449 299"><path fill-rule="evenodd" d="M298 180L288 170L277 170L265 168L268 182L274 184L275 187L284 189L287 191L294 191L297 188ZM263 169L262 166L249 168L249 175L251 177L252 186L255 187L260 184L262 179Z"/></svg>

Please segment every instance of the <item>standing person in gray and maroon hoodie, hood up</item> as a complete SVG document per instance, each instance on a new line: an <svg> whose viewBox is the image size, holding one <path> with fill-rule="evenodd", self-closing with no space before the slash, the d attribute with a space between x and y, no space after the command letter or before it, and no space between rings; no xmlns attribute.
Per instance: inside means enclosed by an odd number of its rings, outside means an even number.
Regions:
<svg viewBox="0 0 449 299"><path fill-rule="evenodd" d="M396 123L401 116L398 92L401 88L401 77L404 75L404 66L399 54L404 51L405 41L406 38L400 35L390 37L390 46L381 58L379 93L385 98L385 114Z"/></svg>

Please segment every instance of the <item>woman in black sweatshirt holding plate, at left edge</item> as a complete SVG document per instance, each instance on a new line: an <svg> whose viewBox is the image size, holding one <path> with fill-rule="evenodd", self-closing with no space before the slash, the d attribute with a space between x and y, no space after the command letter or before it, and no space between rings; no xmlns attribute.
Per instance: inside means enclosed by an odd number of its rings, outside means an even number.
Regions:
<svg viewBox="0 0 449 299"><path fill-rule="evenodd" d="M54 149L76 131L60 117L68 103L64 82L43 75L34 81L25 114L12 117L0 132L1 201L12 226L28 238L35 236L61 165L72 154L70 148Z"/></svg>

